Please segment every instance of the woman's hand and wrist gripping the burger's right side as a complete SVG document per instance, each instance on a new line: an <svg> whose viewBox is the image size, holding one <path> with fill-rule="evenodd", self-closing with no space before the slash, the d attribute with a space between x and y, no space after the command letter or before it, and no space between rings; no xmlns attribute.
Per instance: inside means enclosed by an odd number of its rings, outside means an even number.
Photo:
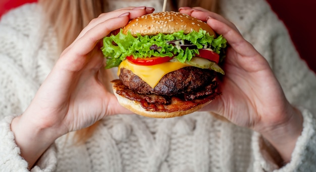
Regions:
<svg viewBox="0 0 316 172"><path fill-rule="evenodd" d="M290 105L267 60L222 16L202 8L180 8L222 34L229 47L220 83L222 95L204 110L260 132L287 162L302 130L302 117Z"/></svg>

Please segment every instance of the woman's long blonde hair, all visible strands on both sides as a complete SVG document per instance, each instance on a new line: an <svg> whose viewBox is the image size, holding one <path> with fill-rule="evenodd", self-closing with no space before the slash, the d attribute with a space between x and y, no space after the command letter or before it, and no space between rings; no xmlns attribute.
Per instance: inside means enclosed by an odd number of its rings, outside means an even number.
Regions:
<svg viewBox="0 0 316 172"><path fill-rule="evenodd" d="M170 1L172 9L177 11L179 7L203 7L210 11L216 11L216 0ZM39 0L39 5L45 13L56 32L60 53L67 48L79 35L88 23L101 13L108 12L107 2L104 0ZM99 122L90 127L81 129L75 134L77 143L84 143L93 134Z"/></svg>

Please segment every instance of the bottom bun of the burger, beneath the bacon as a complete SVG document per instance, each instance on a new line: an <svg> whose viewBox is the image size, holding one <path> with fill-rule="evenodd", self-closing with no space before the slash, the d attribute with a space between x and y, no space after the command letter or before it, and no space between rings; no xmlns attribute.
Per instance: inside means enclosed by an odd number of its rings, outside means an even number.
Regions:
<svg viewBox="0 0 316 172"><path fill-rule="evenodd" d="M204 99L199 99L196 102L182 101L182 100L179 100L178 98L172 98L171 104L166 105L166 108L160 109L164 105L150 104L150 107L154 106L154 107L159 107L159 108L145 109L142 107L142 104L140 102L127 99L124 96L117 94L118 90L122 91L122 85L121 85L122 82L120 80L114 80L112 81L112 83L114 83L113 85L114 95L117 97L118 102L123 107L134 112L135 114L142 115L145 117L151 117L151 118L173 118L173 117L187 115L195 111L198 111L199 109L203 108L204 106L212 102L212 100L214 100L217 96L219 96L218 93L215 93L212 96L208 96Z"/></svg>

